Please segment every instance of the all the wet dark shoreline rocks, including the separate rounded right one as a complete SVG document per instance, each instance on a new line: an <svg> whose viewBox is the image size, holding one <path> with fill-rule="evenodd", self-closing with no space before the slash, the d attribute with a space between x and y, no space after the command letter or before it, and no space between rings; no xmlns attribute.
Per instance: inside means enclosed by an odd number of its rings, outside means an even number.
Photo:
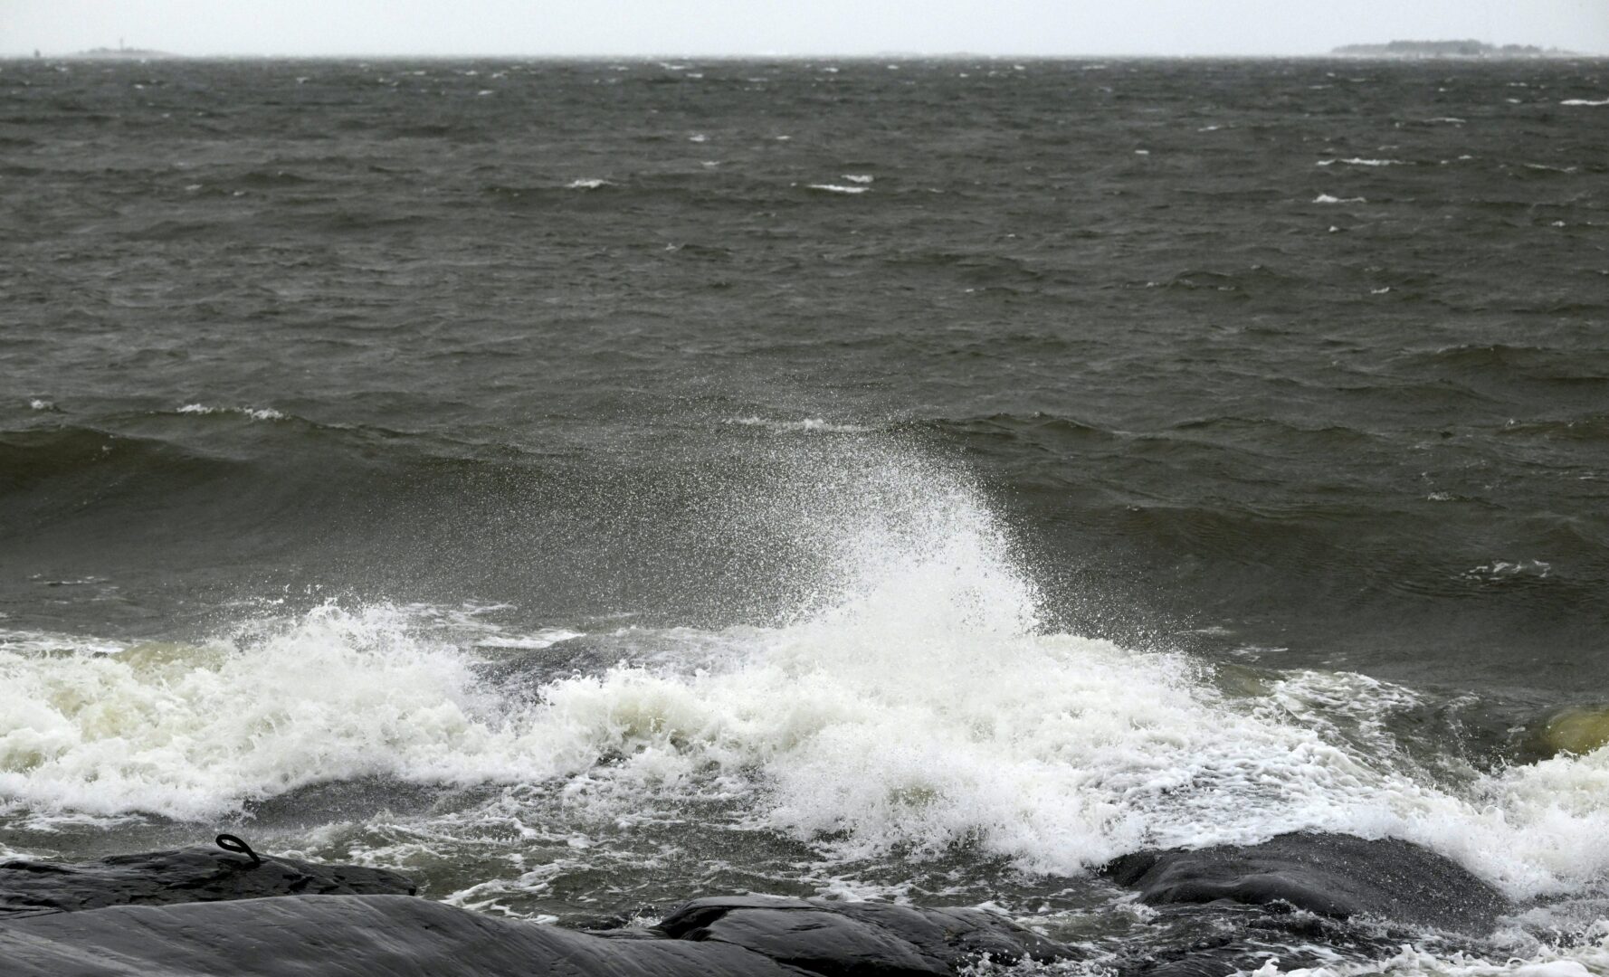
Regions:
<svg viewBox="0 0 1609 977"><path fill-rule="evenodd" d="M1490 929L1501 895L1398 840L1292 834L1149 851L1104 869L1157 906L1270 919ZM916 977L981 963L1073 963L1078 946L972 908L759 895L695 898L650 927L574 930L418 898L402 874L208 848L66 866L0 864L0 959L16 977L417 975ZM1250 943L1160 946L1133 974L1228 974Z"/></svg>

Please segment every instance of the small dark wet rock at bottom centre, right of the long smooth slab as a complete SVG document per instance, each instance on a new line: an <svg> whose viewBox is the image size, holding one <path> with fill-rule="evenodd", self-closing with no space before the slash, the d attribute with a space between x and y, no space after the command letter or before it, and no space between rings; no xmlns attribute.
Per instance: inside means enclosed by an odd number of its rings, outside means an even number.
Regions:
<svg viewBox="0 0 1609 977"><path fill-rule="evenodd" d="M732 943L824 977L951 974L983 954L1006 964L1072 956L1065 946L980 909L887 903L702 898L655 929L676 940Z"/></svg>

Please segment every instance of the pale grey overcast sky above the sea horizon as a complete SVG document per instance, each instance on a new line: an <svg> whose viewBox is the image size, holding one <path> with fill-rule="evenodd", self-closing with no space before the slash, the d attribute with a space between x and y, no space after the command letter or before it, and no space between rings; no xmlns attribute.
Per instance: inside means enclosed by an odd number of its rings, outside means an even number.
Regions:
<svg viewBox="0 0 1609 977"><path fill-rule="evenodd" d="M0 0L0 53L1313 55L1464 39L1609 53L1609 0Z"/></svg>

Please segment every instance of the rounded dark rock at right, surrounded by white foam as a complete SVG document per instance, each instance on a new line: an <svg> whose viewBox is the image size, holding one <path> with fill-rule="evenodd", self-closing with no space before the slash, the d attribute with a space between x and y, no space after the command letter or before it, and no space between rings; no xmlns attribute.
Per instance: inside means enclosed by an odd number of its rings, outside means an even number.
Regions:
<svg viewBox="0 0 1609 977"><path fill-rule="evenodd" d="M1453 861L1398 839L1286 834L1261 845L1142 851L1102 872L1150 905L1289 903L1319 916L1372 916L1488 932L1508 901Z"/></svg>

